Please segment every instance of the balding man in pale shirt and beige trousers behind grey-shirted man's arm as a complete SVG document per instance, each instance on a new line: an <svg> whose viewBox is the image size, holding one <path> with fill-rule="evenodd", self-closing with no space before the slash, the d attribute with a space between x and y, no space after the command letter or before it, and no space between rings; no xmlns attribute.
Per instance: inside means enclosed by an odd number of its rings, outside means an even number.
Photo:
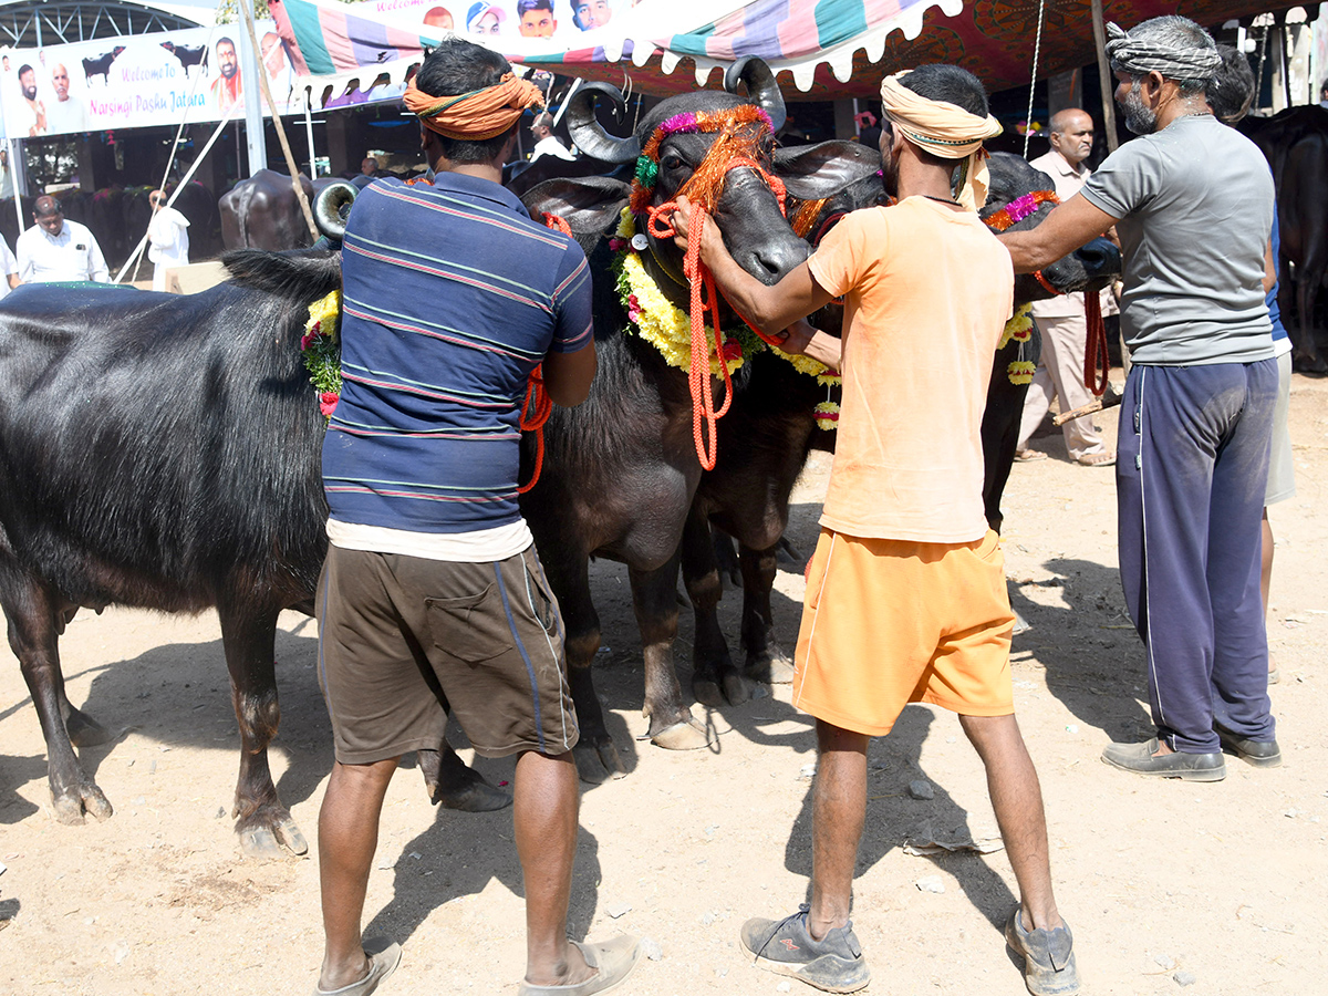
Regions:
<svg viewBox="0 0 1328 996"><path fill-rule="evenodd" d="M1052 147L1032 161L1035 169L1052 178L1061 203L1074 197L1092 170L1084 159L1093 151L1093 118L1077 108L1052 117ZM1102 315L1116 315L1116 297L1102 291ZM1028 385L1024 414L1019 424L1019 449L1015 459L1045 459L1046 454L1028 449L1029 437L1041 425L1052 398L1060 398L1061 410L1082 408L1093 400L1084 386L1084 352L1088 348L1088 321L1084 317L1084 293L1066 293L1033 304L1033 321L1042 333L1042 361ZM1106 448L1093 416L1084 416L1061 426L1065 449L1076 463L1105 467L1116 463L1116 453Z"/></svg>

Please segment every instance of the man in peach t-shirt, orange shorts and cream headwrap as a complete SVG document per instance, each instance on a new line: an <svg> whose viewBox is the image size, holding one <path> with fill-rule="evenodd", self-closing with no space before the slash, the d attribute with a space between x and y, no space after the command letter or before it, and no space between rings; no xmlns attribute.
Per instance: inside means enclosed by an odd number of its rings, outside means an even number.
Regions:
<svg viewBox="0 0 1328 996"><path fill-rule="evenodd" d="M774 287L737 266L709 219L692 234L742 315L768 335L788 329L786 349L843 373L793 684L794 705L817 717L811 903L748 920L742 944L762 968L822 989L869 983L849 920L867 741L924 701L959 713L987 768L1021 892L1005 936L1024 956L1028 988L1074 993L1041 790L1015 721L1004 562L983 514L980 426L1015 287L1008 252L976 214L981 142L1000 125L981 84L957 66L890 77L882 104L882 170L898 205L847 215ZM689 206L680 206L685 238ZM801 321L841 295L842 340Z"/></svg>

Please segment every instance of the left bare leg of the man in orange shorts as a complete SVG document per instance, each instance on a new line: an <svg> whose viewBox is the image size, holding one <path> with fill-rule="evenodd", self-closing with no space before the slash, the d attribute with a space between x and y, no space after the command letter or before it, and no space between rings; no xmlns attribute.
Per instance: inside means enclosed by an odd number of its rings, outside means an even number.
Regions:
<svg viewBox="0 0 1328 996"><path fill-rule="evenodd" d="M858 842L867 818L867 736L817 720L817 784L811 813L811 911L821 940L849 923Z"/></svg>

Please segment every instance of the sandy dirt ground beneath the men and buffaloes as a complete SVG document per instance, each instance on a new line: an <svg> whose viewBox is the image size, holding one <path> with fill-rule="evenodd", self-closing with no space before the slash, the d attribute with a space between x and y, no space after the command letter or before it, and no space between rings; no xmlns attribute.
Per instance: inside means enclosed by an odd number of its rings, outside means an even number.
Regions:
<svg viewBox="0 0 1328 996"><path fill-rule="evenodd" d="M1268 620L1283 676L1272 688L1279 769L1228 758L1226 781L1195 785L1098 761L1109 740L1150 730L1143 655L1117 579L1113 474L1069 463L1058 436L1048 437L1036 445L1052 459L1016 465L1007 490L1011 594L1033 625L1015 641L1016 703L1042 780L1057 895L1085 993L1324 992L1328 750L1315 722L1328 713L1328 380L1297 376L1291 404L1299 490L1272 510L1279 546ZM1116 413L1101 421L1114 437ZM803 555L827 470L822 454L795 494L789 535ZM778 579L788 647L801 567L784 564ZM655 942L657 957L641 963L623 996L789 992L786 980L744 960L737 930L803 899L809 720L782 687L741 708L696 706L718 734L710 752L668 753L637 740L640 643L625 571L599 563L594 583L607 644L599 688L631 772L584 791L570 932ZM736 640L733 594L724 612ZM684 612L684 683L689 639ZM244 861L231 833L238 737L215 616L80 615L61 652L70 700L125 730L81 752L116 815L82 827L50 817L37 716L3 651L0 916L9 923L0 931L0 992L311 992L323 943L316 822L332 762L312 623L282 620L283 721L272 750L282 797L309 838L303 861ZM478 766L494 782L511 780L510 761ZM930 782L934 798L910 797L916 780ZM981 768L954 716L910 706L872 742L869 794L854 914L874 972L866 992L1024 992L1000 935L1015 902L1005 854L903 850L907 838L995 834ZM398 773L367 934L400 940L405 957L380 992L515 991L523 906L510 813L436 810L418 773ZM927 878L943 891L919 888Z"/></svg>

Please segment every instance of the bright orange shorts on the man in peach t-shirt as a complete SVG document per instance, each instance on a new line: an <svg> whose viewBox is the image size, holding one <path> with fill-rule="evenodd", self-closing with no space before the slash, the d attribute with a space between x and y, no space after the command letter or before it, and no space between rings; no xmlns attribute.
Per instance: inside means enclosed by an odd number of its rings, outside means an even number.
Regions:
<svg viewBox="0 0 1328 996"><path fill-rule="evenodd" d="M807 567L793 704L884 736L908 703L963 716L1015 712L1015 615L996 534L972 543L821 530Z"/></svg>

